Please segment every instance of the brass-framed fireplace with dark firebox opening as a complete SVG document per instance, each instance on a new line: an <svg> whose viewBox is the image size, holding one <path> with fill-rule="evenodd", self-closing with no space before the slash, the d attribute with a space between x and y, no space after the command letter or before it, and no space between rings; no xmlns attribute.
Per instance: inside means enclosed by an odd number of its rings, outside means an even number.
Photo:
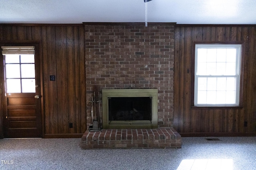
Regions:
<svg viewBox="0 0 256 170"><path fill-rule="evenodd" d="M103 129L157 128L157 89L103 89Z"/></svg>

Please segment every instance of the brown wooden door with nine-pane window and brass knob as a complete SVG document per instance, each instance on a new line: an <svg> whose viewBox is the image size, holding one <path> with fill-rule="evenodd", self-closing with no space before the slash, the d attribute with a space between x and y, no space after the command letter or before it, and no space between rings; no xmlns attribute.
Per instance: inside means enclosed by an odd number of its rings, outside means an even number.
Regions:
<svg viewBox="0 0 256 170"><path fill-rule="evenodd" d="M39 45L18 45L1 46L4 138L42 137Z"/></svg>

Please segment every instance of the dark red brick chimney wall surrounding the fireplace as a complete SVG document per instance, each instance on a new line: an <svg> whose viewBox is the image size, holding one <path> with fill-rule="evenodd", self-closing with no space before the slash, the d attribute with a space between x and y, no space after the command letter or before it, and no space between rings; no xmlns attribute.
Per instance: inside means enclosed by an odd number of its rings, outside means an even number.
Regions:
<svg viewBox="0 0 256 170"><path fill-rule="evenodd" d="M173 127L173 23L85 23L85 44L87 127L95 88L158 88L158 125Z"/></svg>

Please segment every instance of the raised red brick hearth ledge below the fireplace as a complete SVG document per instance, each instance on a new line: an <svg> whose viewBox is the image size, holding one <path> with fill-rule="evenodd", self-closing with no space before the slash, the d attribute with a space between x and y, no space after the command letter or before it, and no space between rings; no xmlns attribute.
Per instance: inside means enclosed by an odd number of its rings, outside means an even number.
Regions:
<svg viewBox="0 0 256 170"><path fill-rule="evenodd" d="M82 149L181 148L181 136L172 127L157 129L102 129L82 136Z"/></svg>

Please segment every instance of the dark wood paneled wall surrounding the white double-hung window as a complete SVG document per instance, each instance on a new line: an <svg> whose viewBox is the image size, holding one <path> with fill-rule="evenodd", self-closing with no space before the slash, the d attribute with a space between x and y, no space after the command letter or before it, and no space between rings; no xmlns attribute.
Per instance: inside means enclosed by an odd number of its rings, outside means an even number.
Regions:
<svg viewBox="0 0 256 170"><path fill-rule="evenodd" d="M192 107L194 41L242 41L242 108ZM174 129L183 136L256 134L256 26L176 25ZM244 122L247 122L247 127Z"/></svg>

